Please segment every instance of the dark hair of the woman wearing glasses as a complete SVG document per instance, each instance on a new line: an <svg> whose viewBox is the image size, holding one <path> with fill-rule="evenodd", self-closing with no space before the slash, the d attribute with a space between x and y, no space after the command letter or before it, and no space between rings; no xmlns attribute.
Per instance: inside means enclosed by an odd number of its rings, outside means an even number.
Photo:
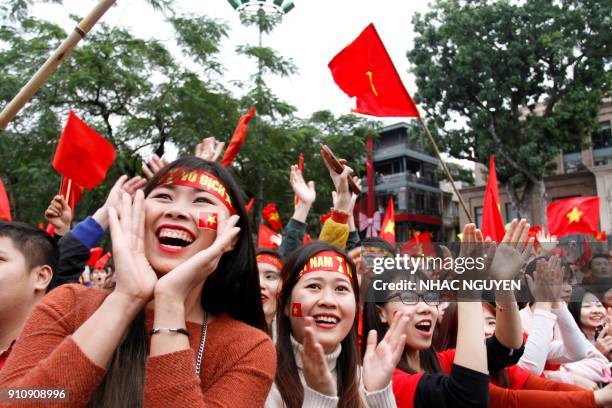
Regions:
<svg viewBox="0 0 612 408"><path fill-rule="evenodd" d="M389 298L397 292L386 289L387 286L383 286L382 290L376 290L374 289L375 283L377 281L391 283L399 282L401 280L418 279L426 280L427 277L420 271L416 272L415 274L407 274L406 271L400 269L386 269L369 283L366 290L366 301L363 307L363 337L361 344L367 344L367 336L370 330L376 330L377 338L381 340L383 337L385 337L385 334L387 334L387 330L389 329L389 325L387 323L383 323L383 321L380 319L378 308L383 307L389 301ZM408 351L408 348L405 347L402 358L397 364L397 368L408 374L416 374L416 371L408 365ZM362 347L362 356L364 353L365 348ZM436 353L432 347L428 348L427 350L419 350L419 359L421 368L426 372L442 372L440 362L438 361L438 357L436 356Z"/></svg>

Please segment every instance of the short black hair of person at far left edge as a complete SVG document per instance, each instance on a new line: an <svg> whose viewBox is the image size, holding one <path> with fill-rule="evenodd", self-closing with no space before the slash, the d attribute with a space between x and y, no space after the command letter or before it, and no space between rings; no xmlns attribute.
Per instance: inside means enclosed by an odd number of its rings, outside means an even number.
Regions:
<svg viewBox="0 0 612 408"><path fill-rule="evenodd" d="M28 271L48 265L55 273L59 264L57 242L46 231L17 221L0 221L0 237L11 240L26 260Z"/></svg>

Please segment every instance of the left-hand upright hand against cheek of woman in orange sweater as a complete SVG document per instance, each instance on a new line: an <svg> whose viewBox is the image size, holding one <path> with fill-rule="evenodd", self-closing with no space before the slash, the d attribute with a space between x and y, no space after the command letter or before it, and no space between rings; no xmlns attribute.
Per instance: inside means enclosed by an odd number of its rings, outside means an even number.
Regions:
<svg viewBox="0 0 612 408"><path fill-rule="evenodd" d="M143 306L153 296L157 282L144 253L144 212L142 190L136 192L133 200L124 192L120 206L108 208L117 282L115 292Z"/></svg>

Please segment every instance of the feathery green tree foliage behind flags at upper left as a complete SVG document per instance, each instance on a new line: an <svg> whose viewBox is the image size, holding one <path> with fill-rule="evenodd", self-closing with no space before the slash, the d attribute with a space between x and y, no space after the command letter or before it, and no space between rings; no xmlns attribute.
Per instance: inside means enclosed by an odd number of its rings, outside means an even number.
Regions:
<svg viewBox="0 0 612 408"><path fill-rule="evenodd" d="M30 3L35 2L22 4L23 18L7 20L0 27L0 107L67 35L51 22L28 17ZM156 4L166 3L172 2ZM2 7L10 4L0 0ZM328 144L362 174L365 136L374 134L377 124L354 115L335 117L326 111L307 119L293 116L295 108L275 96L265 78L290 75L296 68L265 47L245 45L240 49L261 65L262 75L245 75L247 91L236 97L220 83L224 70L218 54L229 35L227 25L190 15L172 15L168 24L175 32L172 53L166 42L144 40L125 28L98 24L11 122L0 136L0 177L14 218L42 222L45 208L59 190L60 176L50 163L70 109L117 148L107 179L86 192L77 205L75 219L79 220L104 202L120 174L139 172L141 154L155 151L161 155L170 145L183 154L191 153L210 135L229 142L240 115L255 104L258 115L232 171L247 198L256 196L259 208L276 201L286 222L293 211L289 167L303 153L304 175L317 186L318 199L309 219L309 232L316 235L319 216L332 205L333 188L321 162L319 143ZM263 24L262 32L273 28L267 20Z"/></svg>

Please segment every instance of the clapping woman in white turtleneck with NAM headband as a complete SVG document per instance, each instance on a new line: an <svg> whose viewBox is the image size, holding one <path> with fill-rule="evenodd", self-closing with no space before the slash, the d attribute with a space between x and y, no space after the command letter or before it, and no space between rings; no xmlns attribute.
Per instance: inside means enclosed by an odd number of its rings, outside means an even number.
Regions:
<svg viewBox="0 0 612 408"><path fill-rule="evenodd" d="M285 262L278 303L275 384L266 407L394 407L391 376L407 319L395 316L376 345L357 351L355 265L337 247L313 242Z"/></svg>

